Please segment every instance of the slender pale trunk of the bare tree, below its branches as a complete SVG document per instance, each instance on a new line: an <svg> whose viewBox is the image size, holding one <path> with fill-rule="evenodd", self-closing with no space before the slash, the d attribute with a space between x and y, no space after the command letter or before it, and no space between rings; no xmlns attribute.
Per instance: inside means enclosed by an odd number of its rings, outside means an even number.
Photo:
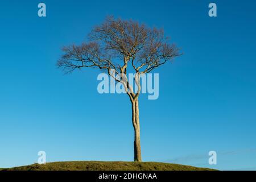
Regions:
<svg viewBox="0 0 256 182"><path fill-rule="evenodd" d="M141 136L139 127L139 101L132 102L134 127L134 161L141 162Z"/></svg>

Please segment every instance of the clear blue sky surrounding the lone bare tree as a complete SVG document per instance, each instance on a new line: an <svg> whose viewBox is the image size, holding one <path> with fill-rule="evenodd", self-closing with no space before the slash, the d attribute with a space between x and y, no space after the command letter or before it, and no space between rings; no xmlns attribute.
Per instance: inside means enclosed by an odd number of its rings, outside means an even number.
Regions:
<svg viewBox="0 0 256 182"><path fill-rule="evenodd" d="M37 161L133 160L125 94L98 94L88 69L63 75L60 48L81 43L106 15L162 27L184 52L159 73L159 98L141 97L144 161L256 169L256 2L1 1L0 167ZM209 166L208 152L217 152Z"/></svg>

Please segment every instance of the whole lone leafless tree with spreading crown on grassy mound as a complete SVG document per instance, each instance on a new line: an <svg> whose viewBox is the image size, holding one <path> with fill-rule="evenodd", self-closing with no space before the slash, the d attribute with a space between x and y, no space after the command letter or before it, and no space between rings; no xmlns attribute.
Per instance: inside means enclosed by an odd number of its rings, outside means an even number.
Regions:
<svg viewBox="0 0 256 182"><path fill-rule="evenodd" d="M92 67L102 69L112 77L111 69L122 75L121 80L115 78L115 81L122 83L131 101L135 133L134 161L141 162L138 101L141 75L172 61L180 55L179 49L168 43L163 30L148 28L133 20L108 17L104 23L93 28L88 35L88 42L64 47L63 52L57 61L57 67L65 73L73 72L77 68ZM137 92L133 91L133 85L127 79L128 67L134 69Z"/></svg>

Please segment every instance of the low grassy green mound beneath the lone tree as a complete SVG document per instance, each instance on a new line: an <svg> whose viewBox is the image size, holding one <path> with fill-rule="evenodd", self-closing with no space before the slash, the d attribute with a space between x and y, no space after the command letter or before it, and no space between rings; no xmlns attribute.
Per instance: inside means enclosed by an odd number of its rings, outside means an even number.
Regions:
<svg viewBox="0 0 256 182"><path fill-rule="evenodd" d="M180 164L157 162L54 162L45 165L32 164L14 168L5 168L7 171L209 171L214 169L197 168Z"/></svg>

